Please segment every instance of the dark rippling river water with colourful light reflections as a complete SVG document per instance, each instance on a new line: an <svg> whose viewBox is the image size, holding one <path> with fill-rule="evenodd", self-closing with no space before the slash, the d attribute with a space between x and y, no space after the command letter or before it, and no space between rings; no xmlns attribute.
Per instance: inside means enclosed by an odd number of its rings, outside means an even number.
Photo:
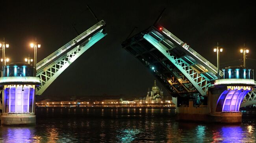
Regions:
<svg viewBox="0 0 256 143"><path fill-rule="evenodd" d="M177 122L174 109L38 108L33 127L0 127L1 143L256 142L254 112L241 125Z"/></svg>

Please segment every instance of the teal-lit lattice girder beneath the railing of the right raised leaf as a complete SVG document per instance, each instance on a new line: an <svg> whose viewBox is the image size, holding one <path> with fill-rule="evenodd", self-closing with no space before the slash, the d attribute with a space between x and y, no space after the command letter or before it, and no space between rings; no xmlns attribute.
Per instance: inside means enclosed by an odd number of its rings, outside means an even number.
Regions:
<svg viewBox="0 0 256 143"><path fill-rule="evenodd" d="M208 87L211 86L209 80L199 74L197 71L192 69L187 63L185 63L182 59L177 58L176 56L172 55L169 52L169 49L165 47L162 43L158 40L153 38L150 34L145 34L143 36L149 43L151 43L158 51L160 51L168 60L170 60L177 69L182 72L184 76L190 81L190 83L197 89L197 91L202 95L205 96Z"/></svg>

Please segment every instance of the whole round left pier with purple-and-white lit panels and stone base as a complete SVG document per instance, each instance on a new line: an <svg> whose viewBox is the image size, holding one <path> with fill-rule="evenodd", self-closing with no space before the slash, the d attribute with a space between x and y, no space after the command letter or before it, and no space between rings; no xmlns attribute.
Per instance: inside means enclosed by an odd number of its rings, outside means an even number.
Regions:
<svg viewBox="0 0 256 143"><path fill-rule="evenodd" d="M26 63L3 66L1 125L35 125L35 76L35 67Z"/></svg>

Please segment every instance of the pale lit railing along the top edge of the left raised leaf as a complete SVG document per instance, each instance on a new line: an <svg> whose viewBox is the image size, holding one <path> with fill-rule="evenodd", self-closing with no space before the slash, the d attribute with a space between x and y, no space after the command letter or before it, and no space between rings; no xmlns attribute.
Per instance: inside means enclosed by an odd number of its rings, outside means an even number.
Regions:
<svg viewBox="0 0 256 143"><path fill-rule="evenodd" d="M93 25L91 28L89 28L87 31L83 32L82 34L78 35L76 38L74 38L73 40L71 40L69 43L65 44L64 46L62 46L61 48L59 48L57 51L53 52L52 54L50 54L49 56L47 56L46 58L44 58L43 60L41 60L40 62L37 63L36 65L36 69L40 69L41 67L45 66L47 63L49 63L50 61L52 61L53 59L55 59L56 57L58 57L59 55L61 55L63 52L67 51L70 47L72 47L73 45L75 45L76 43L78 43L79 41L83 40L84 38L86 38L89 34L93 33L94 31L96 31L97 29L99 29L100 27L104 26L106 24L106 22L104 22L104 20L101 20L100 22L98 22L97 24Z"/></svg>

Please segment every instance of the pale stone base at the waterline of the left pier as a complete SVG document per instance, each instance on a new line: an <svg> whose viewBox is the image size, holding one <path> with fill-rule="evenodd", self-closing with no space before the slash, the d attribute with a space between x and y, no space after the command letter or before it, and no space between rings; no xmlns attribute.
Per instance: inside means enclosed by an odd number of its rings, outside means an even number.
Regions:
<svg viewBox="0 0 256 143"><path fill-rule="evenodd" d="M2 113L2 126L35 125L35 113Z"/></svg>

